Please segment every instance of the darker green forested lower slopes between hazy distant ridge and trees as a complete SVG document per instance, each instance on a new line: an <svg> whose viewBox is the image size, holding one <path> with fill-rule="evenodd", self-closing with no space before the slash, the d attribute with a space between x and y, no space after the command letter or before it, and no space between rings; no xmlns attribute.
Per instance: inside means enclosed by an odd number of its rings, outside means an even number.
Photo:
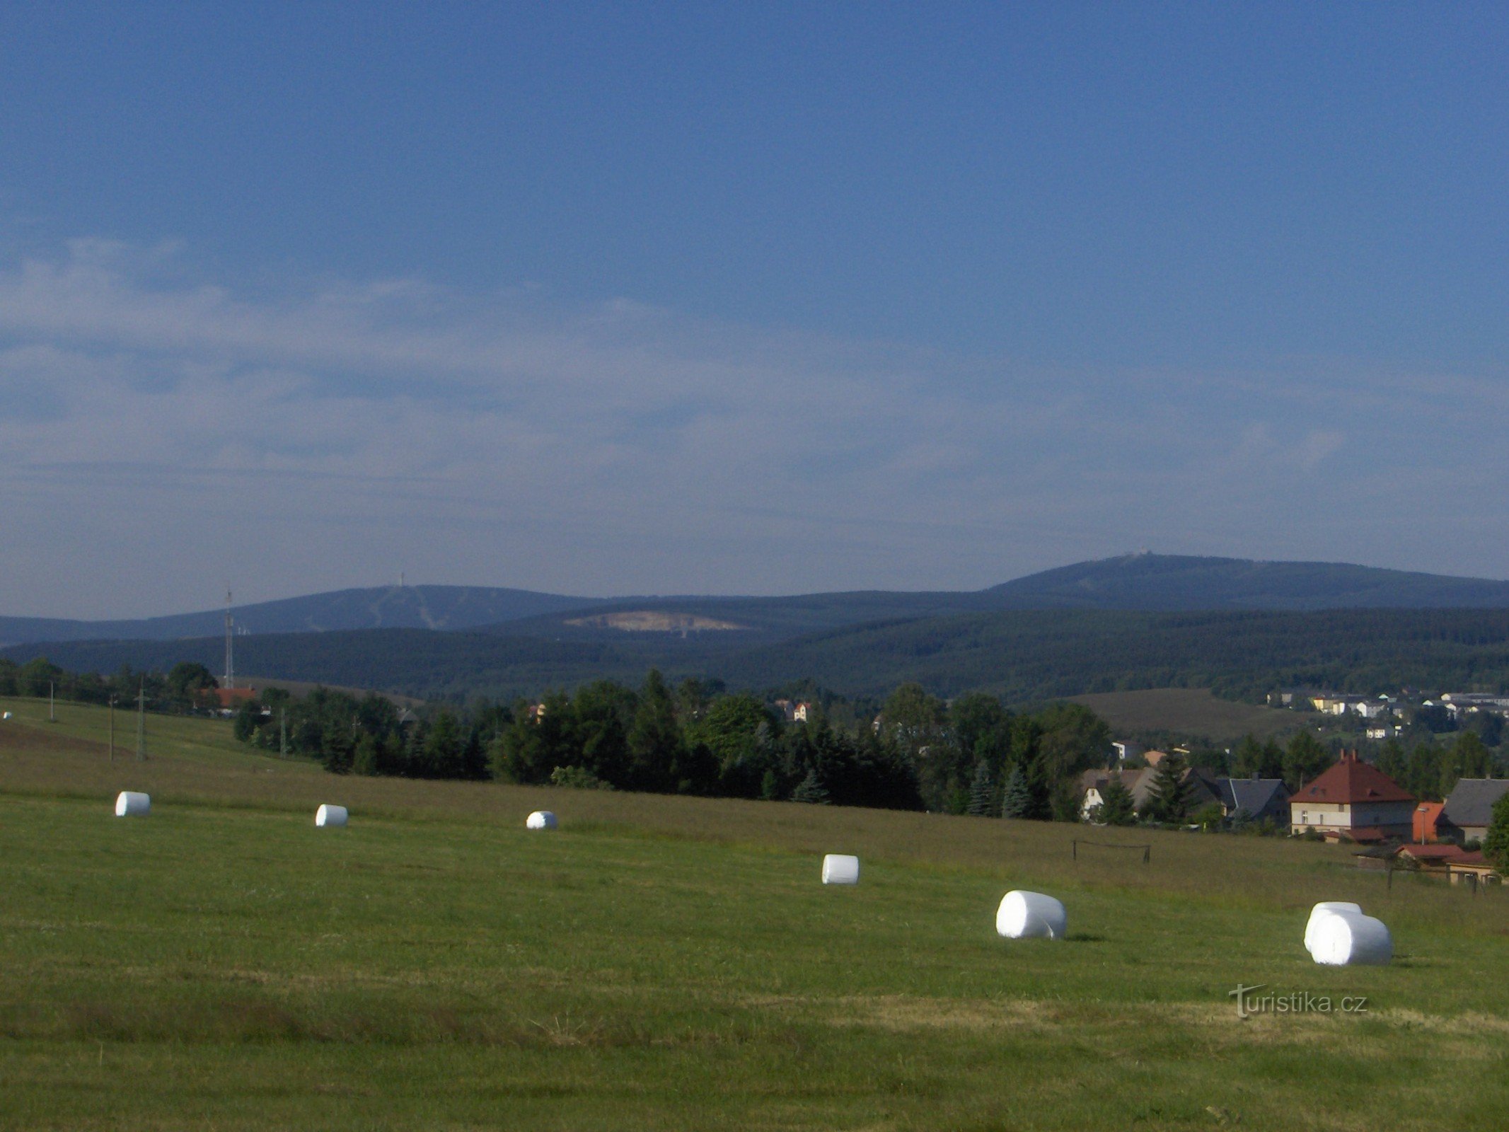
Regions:
<svg viewBox="0 0 1509 1132"><path fill-rule="evenodd" d="M1286 685L1509 688L1509 610L1032 610L871 623L744 649L726 644L732 635L266 634L237 643L237 667L263 678L448 699L533 696L604 678L634 682L649 667L733 688L812 679L841 694L875 696L919 681L940 696L990 691L1008 702L1180 685L1228 696ZM222 648L208 637L63 643L45 654L74 672L113 673L122 664L166 672L178 661L214 672ZM0 657L26 663L42 651L21 646Z"/></svg>

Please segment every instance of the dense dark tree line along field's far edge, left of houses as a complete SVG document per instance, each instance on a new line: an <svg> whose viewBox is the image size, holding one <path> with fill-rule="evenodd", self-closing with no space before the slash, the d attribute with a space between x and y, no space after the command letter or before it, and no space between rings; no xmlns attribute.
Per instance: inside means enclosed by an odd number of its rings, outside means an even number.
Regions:
<svg viewBox="0 0 1509 1132"><path fill-rule="evenodd" d="M333 773L1065 821L1077 818L1077 776L1109 753L1105 721L1073 703L1013 712L994 696L945 703L907 684L875 712L828 696L806 714L791 721L767 697L650 670L637 688L593 681L420 712L379 696L267 691L240 706L235 734Z"/></svg>

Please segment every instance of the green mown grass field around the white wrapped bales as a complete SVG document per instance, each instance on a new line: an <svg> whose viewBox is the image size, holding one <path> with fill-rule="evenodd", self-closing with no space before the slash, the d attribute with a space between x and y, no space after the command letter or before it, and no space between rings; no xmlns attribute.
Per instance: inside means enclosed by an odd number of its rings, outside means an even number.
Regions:
<svg viewBox="0 0 1509 1132"><path fill-rule="evenodd" d="M1509 1111L1509 900L1313 844L335 779L8 702L0 1127L1440 1129ZM118 789L152 814L116 820ZM317 830L314 807L352 807ZM554 833L524 817L548 806ZM1153 862L1082 847L1151 841ZM863 859L818 883L822 851ZM1010 943L1010 887L1067 942ZM1323 969L1316 900L1393 928ZM1366 995L1240 1020L1228 992Z"/></svg>

